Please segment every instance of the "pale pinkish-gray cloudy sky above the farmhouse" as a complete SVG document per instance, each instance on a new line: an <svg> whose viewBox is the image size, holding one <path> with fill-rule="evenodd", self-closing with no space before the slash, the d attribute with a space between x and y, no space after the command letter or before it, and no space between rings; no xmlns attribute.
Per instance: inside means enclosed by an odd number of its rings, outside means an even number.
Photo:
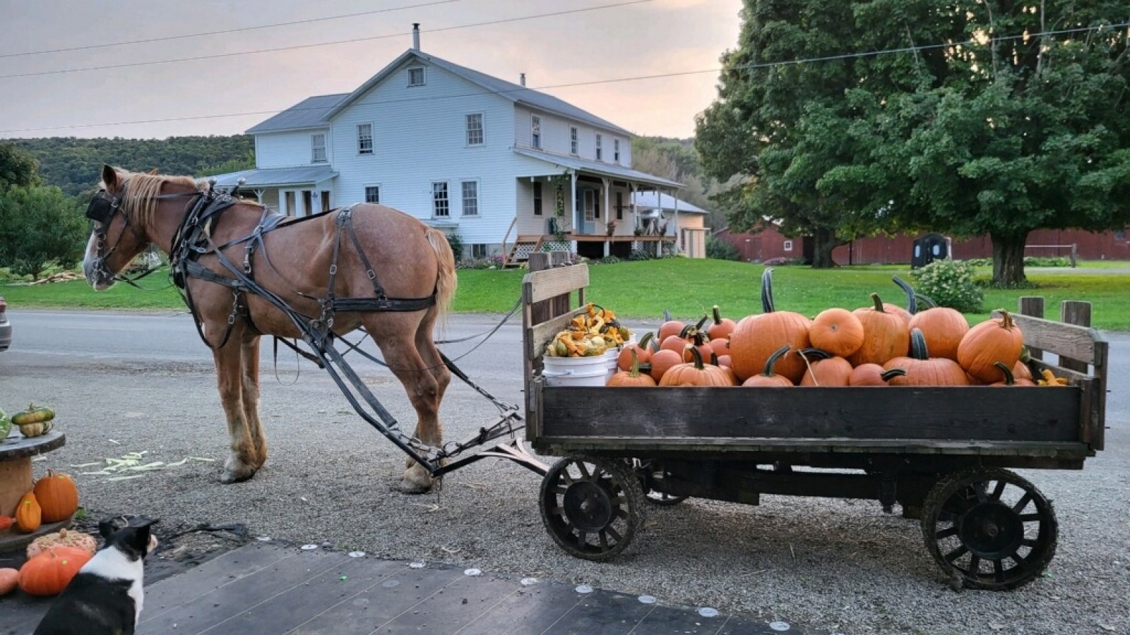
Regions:
<svg viewBox="0 0 1130 635"><path fill-rule="evenodd" d="M515 84L524 72L529 88L636 134L685 138L716 95L740 10L741 0L0 0L0 139L238 134L306 97L353 92L411 47L412 23L425 53Z"/></svg>

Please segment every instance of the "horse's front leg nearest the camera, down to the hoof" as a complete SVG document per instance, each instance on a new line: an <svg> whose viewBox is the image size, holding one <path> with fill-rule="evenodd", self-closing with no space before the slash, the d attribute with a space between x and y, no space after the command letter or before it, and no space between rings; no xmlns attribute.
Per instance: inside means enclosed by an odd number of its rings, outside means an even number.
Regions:
<svg viewBox="0 0 1130 635"><path fill-rule="evenodd" d="M234 334L234 333L233 333ZM223 347L212 349L219 401L227 417L231 453L224 463L220 482L240 482L255 476L255 444L244 410L243 345L232 337Z"/></svg>

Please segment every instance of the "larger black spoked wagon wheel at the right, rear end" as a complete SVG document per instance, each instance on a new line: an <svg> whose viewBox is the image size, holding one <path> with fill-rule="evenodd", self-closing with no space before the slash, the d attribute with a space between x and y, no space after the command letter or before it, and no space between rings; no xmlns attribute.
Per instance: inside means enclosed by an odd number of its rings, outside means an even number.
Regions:
<svg viewBox="0 0 1130 635"><path fill-rule="evenodd" d="M946 575L1005 591L1038 576L1055 555L1051 501L1009 470L970 468L942 478L922 504L922 537Z"/></svg>

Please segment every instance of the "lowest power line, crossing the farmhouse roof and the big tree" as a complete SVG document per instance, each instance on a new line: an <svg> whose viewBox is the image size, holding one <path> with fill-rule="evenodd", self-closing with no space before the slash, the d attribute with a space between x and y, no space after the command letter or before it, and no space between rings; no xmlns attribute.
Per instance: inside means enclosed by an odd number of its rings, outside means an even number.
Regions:
<svg viewBox="0 0 1130 635"><path fill-rule="evenodd" d="M1101 26L1094 26L1094 27L1078 27L1078 28L1069 28L1069 29L1061 29L1061 31L1049 31L1049 32L1041 32L1041 33L1029 33L1027 35L1000 36L1000 37L992 38L992 41L994 41L994 42L1002 42L1002 41L1008 41L1008 40L1034 38L1034 37L1044 37L1044 36L1052 36L1052 35L1066 35L1066 34L1074 34L1074 33L1085 33L1085 32L1092 32L1092 31L1101 31L1101 29L1104 29L1104 28L1125 28L1125 27L1130 27L1130 21L1128 21L1128 23L1119 23L1119 24L1110 24L1110 25L1101 25ZM462 28L462 27L449 27L449 29L450 28ZM844 53L844 54L840 54L840 55L827 55L827 56L820 56L820 58L806 58L806 59L800 59L800 60L783 60L783 61L779 61L779 62L758 62L758 63L740 64L740 66L734 66L734 67L729 67L729 68L711 68L711 69L702 69L702 70L664 72L664 73L657 73L657 75L640 75L640 76L632 76L632 77L618 77L618 78L611 78L611 79L597 79L597 80L591 80L591 81L577 81L577 82L572 82L572 84L554 84L554 85L547 85L547 86L539 86L539 87L536 87L536 88L518 87L518 88L514 88L514 89L511 89L511 90L475 90L475 92L469 92L469 93L458 93L458 94L452 94L452 95L444 95L442 97L406 97L406 98L400 98L400 99L383 99L381 102L376 102L376 104L381 105L381 104L397 104L397 103L405 103L405 102L452 99L452 98L460 98L460 97L470 97L470 96L476 96L476 95L489 95L489 94L494 94L494 93L506 94L506 93L520 93L520 92L523 92L523 90L549 90L549 89L554 89L554 88L574 88L574 87L580 87L580 86L594 86L594 85L601 85L601 84L618 84L618 82L625 82L625 81L642 81L642 80L649 80L649 79L664 79L664 78L670 78L670 77L683 77L683 76L688 76L688 75L703 75L703 73L707 73L707 72L720 72L720 71L724 71L724 70L754 70L754 69L783 67L783 66L796 66L796 64L802 64L802 63L825 62L825 61L833 61L833 60L846 60L846 59L867 58L867 56L876 56L876 55L884 55L884 54L892 54L892 53L909 53L909 52L913 52L913 51L925 51L925 50L933 50L933 49L947 49L947 47L964 46L964 45L970 45L970 44L977 44L977 42L975 40L966 40L966 41L962 41L962 42L949 42L949 43L944 43L944 44L924 44L924 45L921 45L921 46L905 46L905 47L899 47L899 49L885 49L885 50L881 50L881 51L867 51L867 52L859 52L859 53ZM325 107L318 107L318 108L287 108L287 110L289 110L290 112L303 112L303 111L314 111L314 110L324 111L327 108ZM43 128L19 128L19 129L0 130L0 133L36 132L36 131L41 131L41 130L71 130L71 129L78 129L78 128L99 128L99 127L106 127L106 125L134 125L134 124L142 124L142 123L167 123L167 122L174 122L174 121L194 121L194 120L203 120L203 119L227 119L227 118L252 116L252 115L260 115L261 116L261 115L276 115L276 114L279 114L280 112L284 112L284 111L251 111L251 112L243 112L243 113L226 113L226 114L211 114L211 115L194 115L194 116L180 116L180 118L148 119L148 120L138 120L138 121L121 121L121 122L114 122L114 123L82 123L82 124L72 124L72 125L43 127Z"/></svg>

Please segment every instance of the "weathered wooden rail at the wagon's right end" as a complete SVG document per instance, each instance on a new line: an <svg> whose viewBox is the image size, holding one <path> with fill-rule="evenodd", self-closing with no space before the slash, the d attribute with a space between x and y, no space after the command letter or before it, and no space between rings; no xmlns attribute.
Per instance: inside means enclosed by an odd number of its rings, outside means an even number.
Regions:
<svg viewBox="0 0 1130 635"><path fill-rule="evenodd" d="M1110 345L1102 333L1090 328L1090 303L1064 301L1060 322L1043 318L1042 297L1022 297L1018 308L1012 318L1024 333L1032 364L1038 369L1048 368L1058 376L1067 377L1083 390L1079 441L1090 445L1092 450L1103 450ZM1043 359L1045 353L1057 355L1058 364Z"/></svg>

